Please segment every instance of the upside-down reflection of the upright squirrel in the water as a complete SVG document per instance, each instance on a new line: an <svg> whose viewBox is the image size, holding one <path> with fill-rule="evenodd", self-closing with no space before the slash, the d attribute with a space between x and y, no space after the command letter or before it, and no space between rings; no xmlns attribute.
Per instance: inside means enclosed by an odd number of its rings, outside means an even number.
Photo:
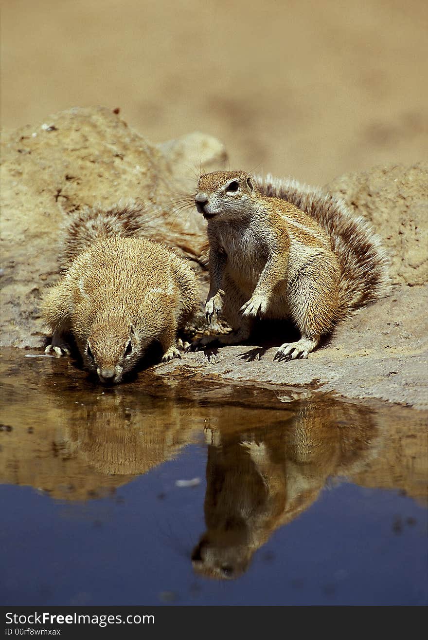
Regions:
<svg viewBox="0 0 428 640"><path fill-rule="evenodd" d="M206 532L192 552L195 572L238 577L278 527L309 508L329 476L351 474L371 457L378 429L367 408L305 400L291 415L251 431L206 429Z"/></svg>

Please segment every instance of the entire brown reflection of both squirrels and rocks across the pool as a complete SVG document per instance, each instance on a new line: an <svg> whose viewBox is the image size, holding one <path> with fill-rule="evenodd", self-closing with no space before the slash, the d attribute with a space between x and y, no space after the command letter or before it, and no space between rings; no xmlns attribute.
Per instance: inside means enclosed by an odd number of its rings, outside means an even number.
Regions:
<svg viewBox="0 0 428 640"><path fill-rule="evenodd" d="M204 433L206 531L192 552L201 575L241 575L271 534L309 508L334 477L426 500L423 412L378 413L266 388L236 392L192 383L191 370L189 380L146 372L102 391L66 361L6 352L1 368L3 483L88 500L177 456Z"/></svg>

